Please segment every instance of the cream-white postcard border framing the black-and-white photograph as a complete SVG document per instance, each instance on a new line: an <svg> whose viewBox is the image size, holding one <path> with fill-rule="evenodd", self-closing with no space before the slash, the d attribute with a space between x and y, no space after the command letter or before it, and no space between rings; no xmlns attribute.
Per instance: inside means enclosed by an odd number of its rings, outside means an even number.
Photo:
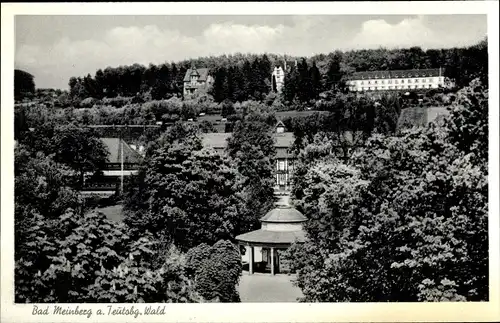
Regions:
<svg viewBox="0 0 500 323"><path fill-rule="evenodd" d="M498 2L308 2L308 3L61 3L2 4L2 322L116 322L142 321L118 316L32 316L32 305L13 305L13 65L14 14L41 15L287 15L287 14L487 14L490 68L490 301L485 303L322 303L322 304L167 304L167 315L148 322L389 322L389 321L500 321L499 295L499 101ZM464 19L466 19L464 17ZM115 304L116 305L116 304ZM127 304L128 305L128 304ZM134 304L137 308L140 305ZM495 306L496 305L496 306Z"/></svg>

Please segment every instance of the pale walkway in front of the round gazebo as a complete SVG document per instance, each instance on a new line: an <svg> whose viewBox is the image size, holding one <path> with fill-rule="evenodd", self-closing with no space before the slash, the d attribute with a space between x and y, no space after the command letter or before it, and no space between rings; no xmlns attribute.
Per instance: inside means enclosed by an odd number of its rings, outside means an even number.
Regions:
<svg viewBox="0 0 500 323"><path fill-rule="evenodd" d="M238 291L242 303L257 302L297 302L302 293L292 285L293 275L254 273L249 275L244 271L240 278Z"/></svg>

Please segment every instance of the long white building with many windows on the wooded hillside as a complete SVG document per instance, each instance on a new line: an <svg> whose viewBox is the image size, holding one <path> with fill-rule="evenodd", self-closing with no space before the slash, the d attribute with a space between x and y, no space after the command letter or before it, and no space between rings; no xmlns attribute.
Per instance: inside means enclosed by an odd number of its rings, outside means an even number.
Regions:
<svg viewBox="0 0 500 323"><path fill-rule="evenodd" d="M423 90L451 86L441 68L356 72L347 81L350 91Z"/></svg>

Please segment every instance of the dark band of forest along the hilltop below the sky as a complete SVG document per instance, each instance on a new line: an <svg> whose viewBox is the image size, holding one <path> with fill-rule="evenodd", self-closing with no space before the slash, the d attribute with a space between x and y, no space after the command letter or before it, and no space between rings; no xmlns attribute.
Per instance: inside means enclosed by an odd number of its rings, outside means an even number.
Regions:
<svg viewBox="0 0 500 323"><path fill-rule="evenodd" d="M343 91L346 78L355 71L444 68L459 87L482 77L487 82L487 40L479 44L450 49L370 49L335 51L310 58L274 54L235 54L201 57L177 64L150 64L99 69L94 76L72 77L70 97L83 100L142 97L155 100L182 96L183 78L192 65L206 67L215 78L212 95L216 102L226 99L261 101L272 91L274 66L285 67L285 98L308 102L326 90ZM285 64L286 62L286 64Z"/></svg>

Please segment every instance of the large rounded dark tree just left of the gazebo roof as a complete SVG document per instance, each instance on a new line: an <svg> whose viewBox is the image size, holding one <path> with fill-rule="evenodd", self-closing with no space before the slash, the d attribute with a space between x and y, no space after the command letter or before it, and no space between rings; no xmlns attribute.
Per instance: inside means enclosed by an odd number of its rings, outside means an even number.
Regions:
<svg viewBox="0 0 500 323"><path fill-rule="evenodd" d="M183 144L160 148L147 176L151 224L181 250L233 240L241 232L236 174L215 151Z"/></svg>

